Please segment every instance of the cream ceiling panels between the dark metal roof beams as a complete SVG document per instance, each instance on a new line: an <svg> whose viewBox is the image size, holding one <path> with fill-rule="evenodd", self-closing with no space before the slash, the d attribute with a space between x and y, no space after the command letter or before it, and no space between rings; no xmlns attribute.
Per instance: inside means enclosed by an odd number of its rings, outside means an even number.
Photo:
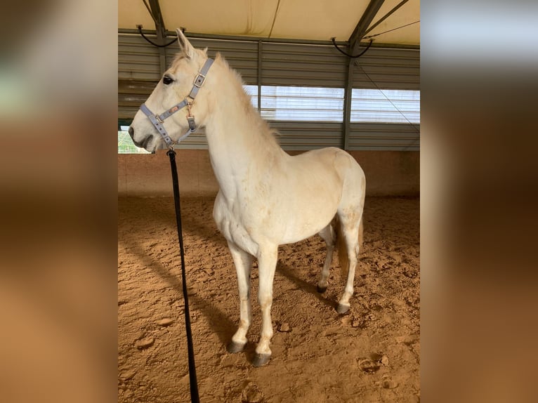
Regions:
<svg viewBox="0 0 538 403"><path fill-rule="evenodd" d="M149 1L148 1L149 2ZM372 23L400 3L386 0ZM166 29L197 34L347 41L369 0L159 0ZM416 22L420 0L409 0L369 34ZM143 0L118 0L118 27L155 29ZM374 43L420 44L420 23L374 37Z"/></svg>

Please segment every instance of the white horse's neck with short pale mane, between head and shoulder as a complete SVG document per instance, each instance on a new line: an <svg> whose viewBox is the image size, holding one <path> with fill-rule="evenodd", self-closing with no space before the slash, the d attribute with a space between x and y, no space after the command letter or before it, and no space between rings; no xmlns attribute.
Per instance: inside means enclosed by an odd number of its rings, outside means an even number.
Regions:
<svg viewBox="0 0 538 403"><path fill-rule="evenodd" d="M247 191L245 183L263 178L284 156L284 151L270 135L268 126L249 105L235 74L225 69L206 123L209 157L218 184L225 196L237 197ZM246 101L248 103L246 103Z"/></svg>

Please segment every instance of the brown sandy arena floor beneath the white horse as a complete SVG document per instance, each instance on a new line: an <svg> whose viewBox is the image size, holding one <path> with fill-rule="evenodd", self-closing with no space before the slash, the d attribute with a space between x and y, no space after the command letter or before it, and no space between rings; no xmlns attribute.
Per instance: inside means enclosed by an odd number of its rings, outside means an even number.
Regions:
<svg viewBox="0 0 538 403"><path fill-rule="evenodd" d="M336 253L319 294L322 239L280 247L273 358L261 368L249 362L261 327L256 263L249 343L225 350L239 298L213 202L181 201L201 402L420 401L419 199L367 198L347 315L334 310L344 286ZM118 238L118 401L190 402L173 199L119 199Z"/></svg>

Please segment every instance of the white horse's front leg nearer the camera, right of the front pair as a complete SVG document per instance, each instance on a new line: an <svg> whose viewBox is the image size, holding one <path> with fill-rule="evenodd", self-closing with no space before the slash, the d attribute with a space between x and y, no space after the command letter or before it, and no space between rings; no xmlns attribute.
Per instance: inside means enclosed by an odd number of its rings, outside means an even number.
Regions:
<svg viewBox="0 0 538 403"><path fill-rule="evenodd" d="M261 308L261 336L256 347L256 356L252 364L262 366L269 362L271 350L269 344L273 337L271 322L271 305L273 305L273 279L277 267L278 246L260 247L258 253L258 303Z"/></svg>

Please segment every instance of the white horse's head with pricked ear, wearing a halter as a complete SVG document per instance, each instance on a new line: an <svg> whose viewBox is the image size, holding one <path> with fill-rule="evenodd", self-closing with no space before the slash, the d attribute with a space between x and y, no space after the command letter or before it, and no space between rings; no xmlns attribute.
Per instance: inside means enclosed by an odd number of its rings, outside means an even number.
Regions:
<svg viewBox="0 0 538 403"><path fill-rule="evenodd" d="M157 126L164 127L165 133L173 142L176 142L189 130L190 124L192 128L193 121L192 119L191 122L188 120L189 113L195 116L196 126L203 126L207 116L209 105L206 97L208 91L205 86L199 88L196 102L189 96L192 94L195 81L197 81L197 86L201 85L199 72L202 71L206 65L206 60L208 60L206 51L195 49L180 29L177 29L176 32L181 51L169 70L163 74L150 97L145 101L145 112L143 107L138 110L129 127L129 134L133 142L149 152L166 147L162 134L157 131ZM202 84L204 84L203 81L204 79L202 79ZM174 105L179 106L177 110L174 110ZM164 121L161 118L163 114L167 114L166 111L172 113L168 114L168 119L165 118L166 121ZM152 123L151 119L156 119L155 123Z"/></svg>

